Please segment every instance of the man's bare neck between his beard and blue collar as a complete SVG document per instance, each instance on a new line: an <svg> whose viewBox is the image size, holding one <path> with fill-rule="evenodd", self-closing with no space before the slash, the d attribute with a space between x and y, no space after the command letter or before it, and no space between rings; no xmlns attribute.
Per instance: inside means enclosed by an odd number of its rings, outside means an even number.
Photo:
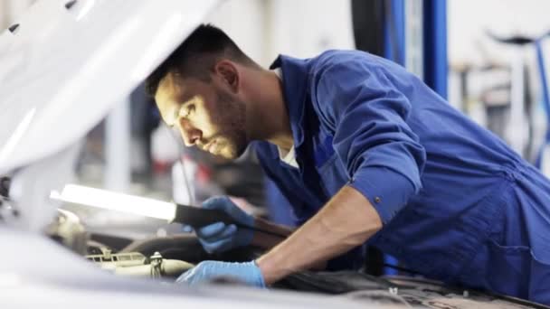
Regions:
<svg viewBox="0 0 550 309"><path fill-rule="evenodd" d="M251 86L251 137L289 150L294 145L282 81L270 70L262 70Z"/></svg>

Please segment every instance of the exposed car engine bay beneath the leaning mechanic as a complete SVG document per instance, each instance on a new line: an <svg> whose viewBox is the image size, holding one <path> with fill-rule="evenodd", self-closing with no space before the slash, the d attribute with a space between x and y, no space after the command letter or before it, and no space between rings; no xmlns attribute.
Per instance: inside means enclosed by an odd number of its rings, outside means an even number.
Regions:
<svg viewBox="0 0 550 309"><path fill-rule="evenodd" d="M48 227L47 234L63 247L116 276L147 278L168 284L204 260L244 262L261 255L256 248L209 254L192 233L137 240L90 233L74 213L62 210ZM229 277L217 278L213 284L241 285ZM420 276L372 276L356 271L304 271L287 276L270 288L414 308L547 308L513 297L445 286Z"/></svg>

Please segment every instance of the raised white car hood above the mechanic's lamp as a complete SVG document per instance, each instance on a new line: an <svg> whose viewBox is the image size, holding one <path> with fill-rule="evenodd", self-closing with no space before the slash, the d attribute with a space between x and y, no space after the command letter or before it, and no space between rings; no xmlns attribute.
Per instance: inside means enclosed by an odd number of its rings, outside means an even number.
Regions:
<svg viewBox="0 0 550 309"><path fill-rule="evenodd" d="M85 136L217 3L38 1L0 34L0 175Z"/></svg>

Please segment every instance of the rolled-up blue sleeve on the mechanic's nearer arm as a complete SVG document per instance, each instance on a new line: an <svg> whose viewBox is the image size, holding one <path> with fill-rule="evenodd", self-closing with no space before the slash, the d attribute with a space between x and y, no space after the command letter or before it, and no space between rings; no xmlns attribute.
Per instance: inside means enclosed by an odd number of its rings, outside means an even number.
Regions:
<svg viewBox="0 0 550 309"><path fill-rule="evenodd" d="M384 224L422 189L426 160L406 119L411 103L387 71L362 61L338 61L317 72L313 99L321 123L350 176Z"/></svg>

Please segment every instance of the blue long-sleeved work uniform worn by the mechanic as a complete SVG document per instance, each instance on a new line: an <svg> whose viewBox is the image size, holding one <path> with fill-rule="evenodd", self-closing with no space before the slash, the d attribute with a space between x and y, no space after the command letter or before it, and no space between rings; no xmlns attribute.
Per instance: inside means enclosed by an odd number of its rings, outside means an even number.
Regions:
<svg viewBox="0 0 550 309"><path fill-rule="evenodd" d="M384 224L368 245L431 278L550 303L536 287L550 286L542 174L391 61L329 51L281 55L273 68L282 71L299 169L275 145L255 146L298 225L349 185ZM329 265L356 268L362 258L355 248Z"/></svg>

